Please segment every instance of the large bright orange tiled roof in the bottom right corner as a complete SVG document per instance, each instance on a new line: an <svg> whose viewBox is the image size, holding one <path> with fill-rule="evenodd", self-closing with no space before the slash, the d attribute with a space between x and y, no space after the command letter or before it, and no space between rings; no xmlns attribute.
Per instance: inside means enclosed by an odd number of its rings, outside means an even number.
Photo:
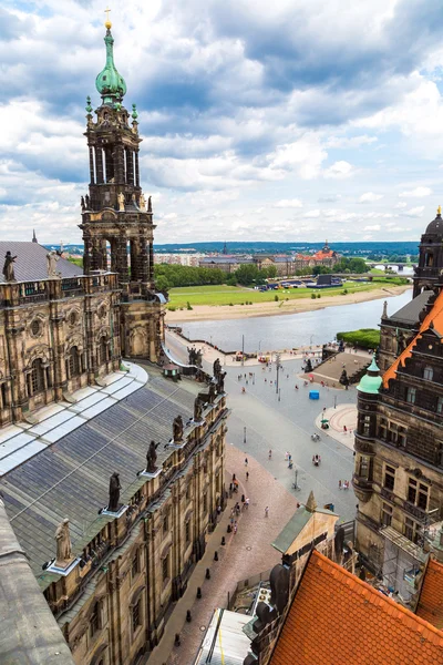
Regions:
<svg viewBox="0 0 443 665"><path fill-rule="evenodd" d="M443 663L443 633L313 551L270 665Z"/></svg>

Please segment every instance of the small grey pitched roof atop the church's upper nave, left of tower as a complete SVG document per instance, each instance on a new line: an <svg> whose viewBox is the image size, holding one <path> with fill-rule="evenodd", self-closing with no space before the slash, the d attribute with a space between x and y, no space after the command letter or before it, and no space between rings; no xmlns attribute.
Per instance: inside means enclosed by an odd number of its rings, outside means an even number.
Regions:
<svg viewBox="0 0 443 665"><path fill-rule="evenodd" d="M14 263L14 275L17 282L33 282L38 279L48 279L47 254L48 249L38 243L16 243L10 241L0 241L0 283L4 282L3 263L7 252L17 256ZM83 275L82 268L72 264L65 258L60 258L56 263L56 269L62 277L76 277Z"/></svg>

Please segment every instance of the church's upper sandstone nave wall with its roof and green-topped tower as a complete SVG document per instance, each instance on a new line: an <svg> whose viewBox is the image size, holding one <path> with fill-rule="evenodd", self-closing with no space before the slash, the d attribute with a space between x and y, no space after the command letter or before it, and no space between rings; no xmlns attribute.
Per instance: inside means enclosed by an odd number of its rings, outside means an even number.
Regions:
<svg viewBox="0 0 443 665"><path fill-rule="evenodd" d="M119 370L122 356L156 362L163 294L154 284L151 197L140 184L137 112L105 37L96 78L102 103L86 106L89 192L82 196L83 269L35 243L0 243L0 427ZM107 257L110 256L110 260Z"/></svg>

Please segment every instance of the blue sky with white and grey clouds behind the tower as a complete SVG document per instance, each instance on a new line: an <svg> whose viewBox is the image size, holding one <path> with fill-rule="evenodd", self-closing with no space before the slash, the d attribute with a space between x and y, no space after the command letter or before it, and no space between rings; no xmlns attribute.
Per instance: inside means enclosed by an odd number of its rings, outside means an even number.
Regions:
<svg viewBox="0 0 443 665"><path fill-rule="evenodd" d="M103 2L3 0L0 237L81 241ZM443 204L441 0L125 0L156 242L420 237Z"/></svg>

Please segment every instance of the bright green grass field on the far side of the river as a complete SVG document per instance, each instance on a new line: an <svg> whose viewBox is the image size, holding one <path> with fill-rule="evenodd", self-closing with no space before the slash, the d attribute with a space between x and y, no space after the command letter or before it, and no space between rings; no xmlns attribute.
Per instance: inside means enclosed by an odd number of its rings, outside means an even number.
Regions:
<svg viewBox="0 0 443 665"><path fill-rule="evenodd" d="M260 293L258 290L238 287L238 286L187 286L182 288L172 288L169 290L169 305L168 309L172 308L186 308L187 303L190 307L198 305L241 305L247 306L246 303L270 303L275 300L276 295L279 300L295 300L300 298L311 298L311 294L315 293L321 296L339 296L344 289L349 294L359 291L373 290L383 286L390 286L389 283L373 282L371 284L359 284L354 282L347 282L344 286L338 288L328 288L319 290L315 288L293 288L288 290L269 290ZM394 286L392 284L392 286Z"/></svg>

